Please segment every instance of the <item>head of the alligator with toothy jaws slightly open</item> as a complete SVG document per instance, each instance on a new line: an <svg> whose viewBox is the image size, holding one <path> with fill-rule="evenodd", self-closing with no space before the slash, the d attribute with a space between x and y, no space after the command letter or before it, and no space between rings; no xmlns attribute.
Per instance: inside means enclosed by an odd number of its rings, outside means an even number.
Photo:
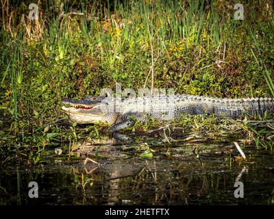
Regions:
<svg viewBox="0 0 274 219"><path fill-rule="evenodd" d="M88 96L84 100L62 100L62 110L79 124L116 122L118 114L110 112L110 99L103 96Z"/></svg>

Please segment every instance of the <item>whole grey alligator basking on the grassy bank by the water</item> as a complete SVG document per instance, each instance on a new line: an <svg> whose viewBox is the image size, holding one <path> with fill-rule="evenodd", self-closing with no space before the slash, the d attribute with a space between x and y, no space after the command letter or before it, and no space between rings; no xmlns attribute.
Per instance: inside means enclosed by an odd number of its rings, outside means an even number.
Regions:
<svg viewBox="0 0 274 219"><path fill-rule="evenodd" d="M62 110L79 124L106 123L109 131L132 127L148 116L156 120L180 118L182 114L214 114L238 118L274 112L274 99L221 99L206 96L172 94L119 99L111 96L88 96L84 100L63 99Z"/></svg>

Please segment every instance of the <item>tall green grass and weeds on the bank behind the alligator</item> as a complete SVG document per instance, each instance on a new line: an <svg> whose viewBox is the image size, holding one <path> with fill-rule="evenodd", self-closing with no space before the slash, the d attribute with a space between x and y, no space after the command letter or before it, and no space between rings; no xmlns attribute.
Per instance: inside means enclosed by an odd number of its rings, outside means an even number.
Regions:
<svg viewBox="0 0 274 219"><path fill-rule="evenodd" d="M115 89L116 82L180 94L274 96L271 1L245 1L244 21L234 20L236 1L83 0L66 1L63 8L45 1L38 21L27 18L31 1L9 2L1 5L0 23L3 155L73 144L82 134L56 123L66 118L60 100ZM213 129L200 122L203 130Z"/></svg>

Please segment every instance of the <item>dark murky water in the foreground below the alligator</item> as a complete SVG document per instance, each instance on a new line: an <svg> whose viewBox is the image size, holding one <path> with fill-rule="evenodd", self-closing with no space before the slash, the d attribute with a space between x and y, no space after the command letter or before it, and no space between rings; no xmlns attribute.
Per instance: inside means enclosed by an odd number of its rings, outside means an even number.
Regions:
<svg viewBox="0 0 274 219"><path fill-rule="evenodd" d="M153 158L139 157L142 142L153 149ZM238 151L230 142L166 144L156 138L140 138L131 144L95 144L89 157L99 165L84 165L84 158L64 159L53 151L45 164L2 166L0 204L273 204L273 153L255 146L245 146L243 151L247 162L236 162L233 157ZM237 178L244 185L244 198L234 197ZM28 196L30 181L38 183L38 198Z"/></svg>

